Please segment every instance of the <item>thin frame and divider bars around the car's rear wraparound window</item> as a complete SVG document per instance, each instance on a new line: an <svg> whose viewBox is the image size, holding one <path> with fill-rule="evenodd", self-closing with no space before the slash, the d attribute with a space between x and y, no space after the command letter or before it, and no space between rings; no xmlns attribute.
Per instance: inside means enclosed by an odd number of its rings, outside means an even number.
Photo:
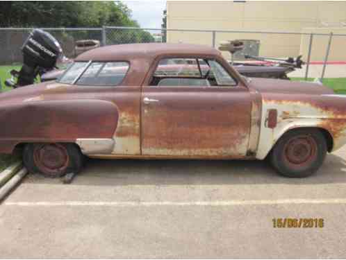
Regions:
<svg viewBox="0 0 346 260"><path fill-rule="evenodd" d="M131 67L131 62L129 62L129 60L88 60L88 61L84 61L84 60L79 60L76 62L87 62L87 66L83 69L83 71L81 73L79 73L79 75L74 78L72 83L61 83L61 84L66 84L66 85L73 85L73 86L81 86L81 87L117 87L117 86L121 86L122 83L124 82L126 76L128 76L128 73L130 71L130 67ZM87 69L90 67L90 65L93 62L99 62L99 63L104 63L101 66L101 70L98 71L97 75L99 75L99 73L104 69L104 67L106 66L107 63L112 63L112 62L124 62L126 64L128 64L126 73L124 74L124 77L122 78L122 81L117 84L117 85L88 85L88 84L78 84L78 80L81 78L81 76L83 76L83 74L85 73L85 71L87 71ZM69 69L73 66L75 62L73 62L65 71L64 73L56 80L56 83L60 83L60 79L63 78L63 76L65 76L65 74L69 71Z"/></svg>

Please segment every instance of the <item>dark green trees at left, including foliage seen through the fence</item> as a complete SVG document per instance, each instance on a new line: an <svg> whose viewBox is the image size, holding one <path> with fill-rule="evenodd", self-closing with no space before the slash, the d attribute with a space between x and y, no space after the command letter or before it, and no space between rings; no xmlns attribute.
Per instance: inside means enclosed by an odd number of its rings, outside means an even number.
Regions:
<svg viewBox="0 0 346 260"><path fill-rule="evenodd" d="M131 10L120 1L2 1L0 3L0 27L33 28L76 28L101 26L140 27L131 18ZM63 46L65 55L74 55L76 40L94 39L101 41L100 31L53 31ZM26 39L24 33L2 31L1 37L11 42L3 49L19 50ZM106 31L106 44L154 42L154 37L142 29L110 29ZM17 51L19 53L19 51ZM18 54L20 57L20 53Z"/></svg>

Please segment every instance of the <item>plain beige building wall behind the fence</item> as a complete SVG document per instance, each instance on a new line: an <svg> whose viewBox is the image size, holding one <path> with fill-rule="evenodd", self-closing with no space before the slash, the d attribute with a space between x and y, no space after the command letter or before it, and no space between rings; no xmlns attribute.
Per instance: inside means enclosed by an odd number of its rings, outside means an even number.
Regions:
<svg viewBox="0 0 346 260"><path fill-rule="evenodd" d="M346 22L346 1L174 1L167 0L167 28L226 31L291 31ZM328 28L330 32L333 28ZM300 35L216 33L216 46L224 40L260 40L260 55L297 56ZM167 42L208 44L212 33L167 32ZM304 42L305 44L305 42ZM303 48L304 49L304 48ZM229 56L228 53L224 53ZM306 57L306 56L305 56Z"/></svg>

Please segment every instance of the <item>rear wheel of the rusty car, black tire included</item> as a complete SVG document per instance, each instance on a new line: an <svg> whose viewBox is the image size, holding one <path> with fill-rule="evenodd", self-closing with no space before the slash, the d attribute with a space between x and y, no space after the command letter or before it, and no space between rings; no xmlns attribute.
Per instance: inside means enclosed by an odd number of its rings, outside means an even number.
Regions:
<svg viewBox="0 0 346 260"><path fill-rule="evenodd" d="M45 177L79 173L84 162L84 155L76 144L26 144L23 150L23 163L28 171Z"/></svg>

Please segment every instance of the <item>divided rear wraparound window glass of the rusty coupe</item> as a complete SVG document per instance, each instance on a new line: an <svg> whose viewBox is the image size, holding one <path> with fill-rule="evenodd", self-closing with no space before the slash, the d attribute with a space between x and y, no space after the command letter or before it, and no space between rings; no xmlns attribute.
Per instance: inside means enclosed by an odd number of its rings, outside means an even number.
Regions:
<svg viewBox="0 0 346 260"><path fill-rule="evenodd" d="M74 62L58 79L59 83L115 86L120 85L129 70L129 62Z"/></svg>

